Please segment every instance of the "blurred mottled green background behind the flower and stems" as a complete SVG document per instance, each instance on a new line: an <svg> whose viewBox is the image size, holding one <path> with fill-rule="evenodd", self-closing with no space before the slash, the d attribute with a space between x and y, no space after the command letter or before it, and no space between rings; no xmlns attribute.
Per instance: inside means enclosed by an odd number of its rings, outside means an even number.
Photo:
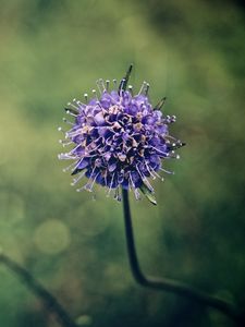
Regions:
<svg viewBox="0 0 245 327"><path fill-rule="evenodd" d="M127 263L122 205L76 193L57 155L63 107L95 81L150 83L187 143L155 183L158 206L132 197L144 270L240 306L245 301L245 21L238 1L0 1L0 247L81 326L233 326L225 316L145 290ZM0 265L0 326L60 326Z"/></svg>

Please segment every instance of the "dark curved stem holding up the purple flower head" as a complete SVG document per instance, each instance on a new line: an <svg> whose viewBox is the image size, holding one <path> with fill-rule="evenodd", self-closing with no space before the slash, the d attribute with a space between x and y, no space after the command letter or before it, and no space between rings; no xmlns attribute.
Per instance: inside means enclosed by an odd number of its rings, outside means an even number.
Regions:
<svg viewBox="0 0 245 327"><path fill-rule="evenodd" d="M231 317L235 320L240 326L243 325L244 316L242 313L240 314L238 311L230 303L225 302L222 299L208 295L195 288L185 284L183 282L168 279L168 278L155 278L155 277L147 277L140 269L137 252L135 247L134 241L134 233L133 233L133 225L131 218L131 210L130 210L130 202L128 202L128 192L126 190L122 190L123 196L123 209L124 209L124 222L125 222L125 234L126 234L126 245L127 245L127 253L130 259L130 266L135 280L143 287L155 289L155 290L162 290L168 292L173 292L179 295L187 296L194 301L198 301L199 303L216 308L226 316Z"/></svg>

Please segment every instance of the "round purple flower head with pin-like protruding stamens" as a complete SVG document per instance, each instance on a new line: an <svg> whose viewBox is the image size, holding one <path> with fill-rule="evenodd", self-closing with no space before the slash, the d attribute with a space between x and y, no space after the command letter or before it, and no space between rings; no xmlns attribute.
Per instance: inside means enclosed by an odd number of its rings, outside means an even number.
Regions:
<svg viewBox="0 0 245 327"><path fill-rule="evenodd" d="M123 187L133 190L136 199L140 197L140 190L156 203L148 179L161 178L158 171L171 173L162 168L162 161L179 158L174 150L184 144L169 135L169 125L175 122L175 117L163 116L160 111L166 98L152 107L148 83L144 82L135 95L133 87L127 87L131 71L132 65L118 87L113 80L112 90L109 81L99 80L98 94L94 89L89 101L85 94L85 102L73 99L68 104L65 111L74 121L63 119L71 129L60 142L73 148L61 153L59 158L73 160L64 169L76 175L72 185L84 177L88 179L78 192L91 192L98 183L107 187L108 195L114 190L119 201Z"/></svg>

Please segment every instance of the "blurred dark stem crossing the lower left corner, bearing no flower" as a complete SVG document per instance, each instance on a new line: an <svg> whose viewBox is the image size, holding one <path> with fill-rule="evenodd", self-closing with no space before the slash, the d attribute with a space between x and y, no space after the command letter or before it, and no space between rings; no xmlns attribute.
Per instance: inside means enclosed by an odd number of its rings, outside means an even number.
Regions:
<svg viewBox="0 0 245 327"><path fill-rule="evenodd" d="M20 266L4 254L0 254L0 263L13 271L27 286L27 288L41 300L47 311L56 314L61 326L77 327L66 311L57 301L57 299L50 294L37 280L35 280L25 268Z"/></svg>

